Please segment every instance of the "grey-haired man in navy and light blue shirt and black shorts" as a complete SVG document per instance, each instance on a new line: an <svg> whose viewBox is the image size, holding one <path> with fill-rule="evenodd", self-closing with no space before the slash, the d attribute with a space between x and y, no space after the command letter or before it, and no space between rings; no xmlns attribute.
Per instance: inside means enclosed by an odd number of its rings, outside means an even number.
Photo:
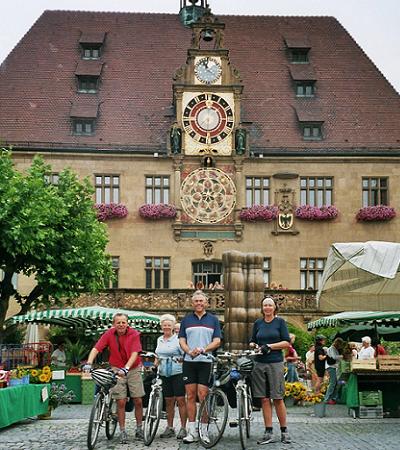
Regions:
<svg viewBox="0 0 400 450"><path fill-rule="evenodd" d="M196 397L201 402L208 393L211 376L211 360L207 353L221 345L221 328L218 318L206 311L207 297L203 291L196 291L192 297L193 313L188 314L181 323L179 343L185 352L183 361L183 380L187 395L189 418L188 434L183 442L198 441L196 429Z"/></svg>

